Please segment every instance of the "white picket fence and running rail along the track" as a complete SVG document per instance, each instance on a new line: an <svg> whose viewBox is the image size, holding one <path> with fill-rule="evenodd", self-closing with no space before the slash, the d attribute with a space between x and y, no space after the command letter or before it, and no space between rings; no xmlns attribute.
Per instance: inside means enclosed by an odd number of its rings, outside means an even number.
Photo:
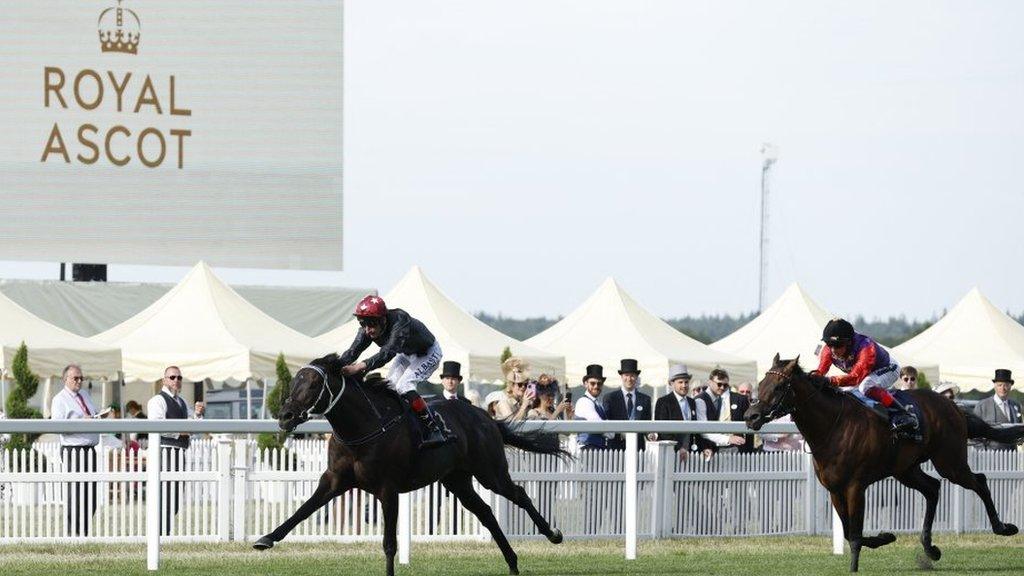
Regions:
<svg viewBox="0 0 1024 576"><path fill-rule="evenodd" d="M195 433L199 427L243 433L275 427L273 422L245 420L0 420L0 431L26 431L26 422L49 430L81 430L85 424L90 431L124 429L128 426L117 424L125 422L142 431ZM42 426L46 423L50 426ZM726 422L555 425L571 431L631 433L740 431L742 426ZM793 431L790 425L774 426L773 431ZM323 422L306 427L326 429ZM636 435L627 435L627 439L632 444ZM814 478L810 455L804 452L722 453L710 461L699 457L681 461L668 442L647 443L642 452L578 451L571 441L567 445L573 460L507 450L513 480L567 538L625 538L628 558L635 558L637 537L827 534L833 530L827 494ZM54 443L37 443L29 451L0 451L0 545L148 541L150 566L155 568L154 554L159 559L159 548L155 551L154 547L159 546L156 536L161 519L167 522L170 518L163 530L165 540L255 540L309 497L328 463L327 441L319 437L296 440L285 450L259 450L245 437L220 434L193 442L186 451L165 449L163 457L161 450L153 447L132 452L120 444L101 443L90 465L83 461L86 454L61 453ZM988 477L1004 520L1024 524L1024 454L972 451L970 457L975 471ZM148 466L155 461L159 461L159 468ZM156 469L160 470L159 480L150 484L153 480L147 475ZM160 491L161 498L147 498L150 486ZM942 488L936 531L989 529L979 498L946 481ZM482 488L478 490L509 537L542 537L524 511ZM172 507L175 499L177 513L161 511ZM416 491L404 502L399 526L399 542L404 545L399 557L407 562L411 540L489 538L476 518L439 484ZM923 515L924 499L890 479L868 492L865 531L915 532L921 529ZM83 529L83 523L87 528ZM289 539L379 541L382 535L378 502L352 490L297 526Z"/></svg>

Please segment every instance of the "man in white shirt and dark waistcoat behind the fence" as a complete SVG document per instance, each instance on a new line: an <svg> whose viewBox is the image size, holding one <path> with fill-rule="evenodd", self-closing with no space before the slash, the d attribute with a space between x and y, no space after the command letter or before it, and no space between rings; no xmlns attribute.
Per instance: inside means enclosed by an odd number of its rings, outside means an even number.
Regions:
<svg viewBox="0 0 1024 576"><path fill-rule="evenodd" d="M188 406L178 396L181 393L181 370L177 366L164 369L163 386L157 396L150 399L145 409L154 420L184 420L188 418ZM184 463L184 453L190 445L187 434L165 433L160 435L161 459L166 471L178 471ZM169 482L166 491L161 490L161 523L160 533L168 535L174 525L174 516L178 513L180 482ZM150 495L153 497L153 495Z"/></svg>

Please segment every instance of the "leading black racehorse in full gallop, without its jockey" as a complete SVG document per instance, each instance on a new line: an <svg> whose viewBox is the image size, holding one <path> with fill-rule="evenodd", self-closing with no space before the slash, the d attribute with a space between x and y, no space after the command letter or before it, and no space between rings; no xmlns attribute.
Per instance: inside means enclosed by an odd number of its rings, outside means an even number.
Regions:
<svg viewBox="0 0 1024 576"><path fill-rule="evenodd" d="M312 361L295 373L291 390L281 407L279 424L287 433L310 416L323 415L334 434L328 444L328 468L316 490L281 526L261 537L254 548L265 550L280 542L300 522L352 488L380 500L384 518L384 554L387 575L394 575L398 548L398 494L440 481L462 505L490 531L510 574L518 574L518 559L502 532L490 506L473 489L472 479L526 510L538 530L554 544L562 533L553 530L534 506L522 487L509 477L505 445L540 454L568 457L557 443L543 442L538 433L516 431L514 424L495 420L467 402L444 401L431 405L458 440L420 451L420 430L412 412L397 393L379 383L343 376L338 355Z"/></svg>

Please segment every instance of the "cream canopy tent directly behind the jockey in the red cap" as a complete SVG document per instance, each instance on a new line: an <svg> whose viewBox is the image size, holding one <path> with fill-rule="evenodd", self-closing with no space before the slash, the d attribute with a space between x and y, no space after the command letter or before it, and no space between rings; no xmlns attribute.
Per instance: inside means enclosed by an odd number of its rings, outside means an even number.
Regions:
<svg viewBox="0 0 1024 576"><path fill-rule="evenodd" d="M561 356L528 346L464 312L430 282L419 266L413 266L383 297L389 307L402 308L426 324L440 342L444 360L461 363L463 376L470 381L503 378L500 360L506 346L514 356L529 362L535 377L542 372L561 376L565 371ZM341 353L348 349L358 329L358 323L351 320L316 339ZM364 357L371 354L375 354L373 347ZM436 379L437 374L434 377Z"/></svg>

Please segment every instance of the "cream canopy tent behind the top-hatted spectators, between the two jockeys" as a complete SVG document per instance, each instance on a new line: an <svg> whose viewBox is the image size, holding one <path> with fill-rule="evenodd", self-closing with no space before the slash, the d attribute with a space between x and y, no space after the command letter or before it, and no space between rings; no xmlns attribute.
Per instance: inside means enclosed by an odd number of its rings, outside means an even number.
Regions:
<svg viewBox="0 0 1024 576"><path fill-rule="evenodd" d="M713 349L680 333L644 310L611 278L554 326L526 340L565 355L566 379L578 385L588 364L604 367L607 383L618 386L618 361L635 358L642 382L662 386L673 364L686 364L694 379L707 379L715 367L728 370L733 381L753 380L753 361Z"/></svg>

